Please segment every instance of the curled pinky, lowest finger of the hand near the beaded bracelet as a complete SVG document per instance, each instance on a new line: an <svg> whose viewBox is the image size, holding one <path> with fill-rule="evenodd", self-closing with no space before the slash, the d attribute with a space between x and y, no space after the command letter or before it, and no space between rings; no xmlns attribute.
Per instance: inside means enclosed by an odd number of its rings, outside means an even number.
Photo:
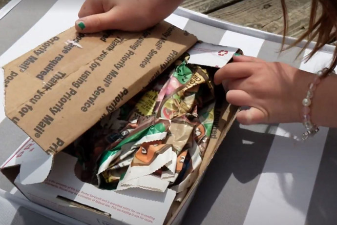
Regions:
<svg viewBox="0 0 337 225"><path fill-rule="evenodd" d="M243 125L252 125L257 123L265 123L267 116L257 108L250 108L237 113L236 119Z"/></svg>

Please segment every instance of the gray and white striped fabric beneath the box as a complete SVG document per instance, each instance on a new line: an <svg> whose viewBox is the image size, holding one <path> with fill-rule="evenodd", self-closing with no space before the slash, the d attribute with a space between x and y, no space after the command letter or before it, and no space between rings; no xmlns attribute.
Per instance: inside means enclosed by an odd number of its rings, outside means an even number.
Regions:
<svg viewBox="0 0 337 225"><path fill-rule="evenodd" d="M83 0L22 0L0 20L0 66L72 26L82 3ZM300 47L278 54L279 36L184 9L178 9L167 21L202 41L239 47L245 55L287 62L310 72L328 65L334 49L326 46L304 63L301 57L310 49L298 59ZM26 135L5 119L3 108L0 120L3 162ZM183 224L336 224L337 129L322 128L304 143L297 141L302 131L301 124L242 126L234 123L212 160ZM12 186L1 177L0 188L9 191Z"/></svg>

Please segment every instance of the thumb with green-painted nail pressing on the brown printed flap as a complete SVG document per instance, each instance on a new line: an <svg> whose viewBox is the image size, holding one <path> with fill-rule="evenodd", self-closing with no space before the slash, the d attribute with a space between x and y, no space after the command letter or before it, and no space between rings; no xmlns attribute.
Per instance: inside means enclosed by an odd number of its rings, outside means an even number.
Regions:
<svg viewBox="0 0 337 225"><path fill-rule="evenodd" d="M81 33L96 33L103 30L118 29L114 10L90 15L75 22L75 28Z"/></svg>

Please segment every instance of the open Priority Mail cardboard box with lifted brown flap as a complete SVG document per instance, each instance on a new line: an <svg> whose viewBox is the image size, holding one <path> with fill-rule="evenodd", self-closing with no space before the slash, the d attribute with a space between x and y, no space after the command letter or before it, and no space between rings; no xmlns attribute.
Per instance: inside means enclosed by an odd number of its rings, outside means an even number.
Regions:
<svg viewBox="0 0 337 225"><path fill-rule="evenodd" d="M238 111L224 96L217 96L221 101L197 179L174 210L169 211L176 193L170 189L115 192L82 182L74 171L77 158L61 151L185 52L189 63L221 67L241 50L197 42L162 22L139 33L84 35L70 28L8 63L6 116L30 138L1 172L29 200L87 224L163 224L168 213L165 223L179 223Z"/></svg>

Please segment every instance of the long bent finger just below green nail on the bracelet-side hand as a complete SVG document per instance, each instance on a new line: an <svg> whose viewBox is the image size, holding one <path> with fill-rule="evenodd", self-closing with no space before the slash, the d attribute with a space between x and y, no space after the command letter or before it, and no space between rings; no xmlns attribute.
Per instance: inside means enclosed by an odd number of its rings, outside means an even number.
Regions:
<svg viewBox="0 0 337 225"><path fill-rule="evenodd" d="M241 57L241 56L240 56ZM232 62L229 63L214 75L214 83L220 84L225 79L238 79L250 77L256 70L259 63L255 62Z"/></svg>

